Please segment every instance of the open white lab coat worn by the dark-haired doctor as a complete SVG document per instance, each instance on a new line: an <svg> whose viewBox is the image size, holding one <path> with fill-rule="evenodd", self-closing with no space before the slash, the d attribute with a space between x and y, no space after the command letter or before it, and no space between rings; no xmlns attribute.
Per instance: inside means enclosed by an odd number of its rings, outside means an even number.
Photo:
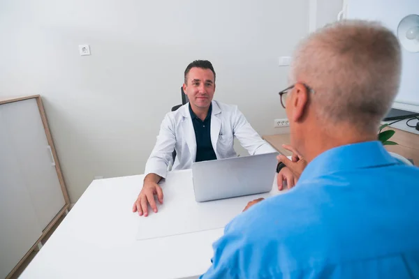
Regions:
<svg viewBox="0 0 419 279"><path fill-rule="evenodd" d="M210 133L217 159L237 156L233 149L234 137L250 155L276 152L251 128L236 105L212 101ZM164 117L156 145L145 165L145 174L154 173L166 178L173 150L176 150L176 158L172 169L190 169L196 158L196 137L189 103Z"/></svg>

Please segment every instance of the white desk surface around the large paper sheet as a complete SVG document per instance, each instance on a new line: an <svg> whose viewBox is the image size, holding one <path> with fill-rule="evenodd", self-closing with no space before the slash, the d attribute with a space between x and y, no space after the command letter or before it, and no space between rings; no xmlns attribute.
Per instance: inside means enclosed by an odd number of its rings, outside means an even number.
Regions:
<svg viewBox="0 0 419 279"><path fill-rule="evenodd" d="M173 186L170 181L177 181L179 191L165 197L166 209L172 200L182 199L185 191L193 191L190 179L179 183L179 176L190 177L190 172L168 175L163 193L165 187ZM146 222L131 210L143 177L93 181L20 278L196 278L204 273L211 264L212 243L223 229L135 240L138 226ZM271 193L245 197L242 206L256 197L277 193L274 187ZM149 225L151 220L147 220ZM161 218L156 220L162 222Z"/></svg>

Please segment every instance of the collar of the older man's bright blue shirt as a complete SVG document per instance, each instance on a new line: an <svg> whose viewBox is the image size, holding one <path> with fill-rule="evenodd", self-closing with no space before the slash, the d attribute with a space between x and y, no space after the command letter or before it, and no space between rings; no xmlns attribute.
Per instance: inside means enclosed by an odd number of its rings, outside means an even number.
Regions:
<svg viewBox="0 0 419 279"><path fill-rule="evenodd" d="M314 158L302 172L299 183L333 172L396 165L393 158L378 141L348 144L329 149Z"/></svg>

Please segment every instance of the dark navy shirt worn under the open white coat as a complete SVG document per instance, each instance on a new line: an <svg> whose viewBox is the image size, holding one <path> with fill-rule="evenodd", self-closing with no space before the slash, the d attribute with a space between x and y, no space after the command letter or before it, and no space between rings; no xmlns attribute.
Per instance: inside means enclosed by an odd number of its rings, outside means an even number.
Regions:
<svg viewBox="0 0 419 279"><path fill-rule="evenodd" d="M189 104L189 113L193 123L193 130L195 130L196 140L196 157L195 162L216 160L216 155L211 142L211 113L212 104L208 110L207 117L204 121L200 120L193 112L191 104Z"/></svg>

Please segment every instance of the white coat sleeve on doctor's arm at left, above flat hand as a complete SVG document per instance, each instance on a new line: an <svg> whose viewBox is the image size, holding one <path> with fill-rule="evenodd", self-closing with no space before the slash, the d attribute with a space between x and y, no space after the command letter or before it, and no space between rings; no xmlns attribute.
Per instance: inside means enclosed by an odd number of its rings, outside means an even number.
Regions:
<svg viewBox="0 0 419 279"><path fill-rule="evenodd" d="M161 122L156 145L145 164L145 175L157 174L166 178L168 165L172 163L172 152L175 150L176 136L173 121L166 114Z"/></svg>

